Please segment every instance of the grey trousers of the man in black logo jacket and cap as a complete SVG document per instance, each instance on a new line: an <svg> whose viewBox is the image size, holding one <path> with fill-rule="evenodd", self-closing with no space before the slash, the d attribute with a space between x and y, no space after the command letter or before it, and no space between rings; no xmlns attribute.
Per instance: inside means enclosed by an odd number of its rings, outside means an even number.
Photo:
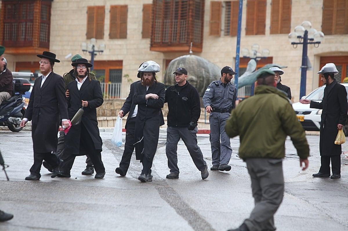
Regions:
<svg viewBox="0 0 348 231"><path fill-rule="evenodd" d="M193 163L195 163L199 171L203 171L207 163L203 159L203 154L197 145L197 132L196 127L192 131L187 129L187 127L167 127L167 145L166 145L166 155L168 158L168 168L171 173L179 174L179 168L177 166L177 143L180 138L186 145L189 151Z"/></svg>

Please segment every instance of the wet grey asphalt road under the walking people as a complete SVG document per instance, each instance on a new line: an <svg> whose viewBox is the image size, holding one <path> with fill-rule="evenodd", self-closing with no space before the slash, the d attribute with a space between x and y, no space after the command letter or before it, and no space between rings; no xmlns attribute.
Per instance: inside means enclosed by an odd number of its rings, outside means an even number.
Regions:
<svg viewBox="0 0 348 231"><path fill-rule="evenodd" d="M153 162L153 181L137 180L142 166L132 157L126 177L114 172L123 147L111 144L111 129L101 132L104 179L83 176L85 157L78 156L71 178L50 178L42 167L40 181L26 181L33 163L31 132L0 131L0 150L10 181L0 171L0 209L14 214L0 223L1 231L13 230L227 230L237 227L253 208L250 179L238 158L239 139L231 139L229 172L209 171L201 180L189 153L180 141L180 178L166 179L165 129L161 129ZM123 134L125 136L125 134ZM301 171L288 138L283 161L285 194L275 215L278 231L348 230L348 159L342 155L341 179L313 178L320 166L319 136L307 136L311 148L309 169ZM198 135L210 168L208 135ZM342 145L348 151L348 145Z"/></svg>

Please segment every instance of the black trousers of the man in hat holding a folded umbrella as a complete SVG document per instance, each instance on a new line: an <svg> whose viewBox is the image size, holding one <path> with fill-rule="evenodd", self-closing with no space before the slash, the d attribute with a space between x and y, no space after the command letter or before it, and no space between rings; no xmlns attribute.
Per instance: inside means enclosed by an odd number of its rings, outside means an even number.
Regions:
<svg viewBox="0 0 348 231"><path fill-rule="evenodd" d="M101 150L97 150L94 147L94 142L90 137L87 129L83 124L81 124L81 135L80 135L80 147L85 147L87 154L90 157L96 173L105 172L104 164L102 162ZM68 174L74 164L76 155L63 153L61 159L63 162L59 165L59 171Z"/></svg>

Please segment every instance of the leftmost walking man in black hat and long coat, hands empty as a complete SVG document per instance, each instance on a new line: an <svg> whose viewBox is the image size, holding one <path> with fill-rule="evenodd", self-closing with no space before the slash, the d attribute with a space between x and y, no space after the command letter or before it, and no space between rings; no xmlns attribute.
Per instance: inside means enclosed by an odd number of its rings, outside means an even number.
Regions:
<svg viewBox="0 0 348 231"><path fill-rule="evenodd" d="M57 173L59 160L52 152L57 149L60 119L62 127L69 126L63 77L53 72L54 63L60 61L56 59L56 54L48 51L37 57L41 58L39 63L42 76L35 79L29 105L21 122L21 127L24 127L31 120L34 149L34 164L26 180L40 179L43 160L53 167L53 174Z"/></svg>

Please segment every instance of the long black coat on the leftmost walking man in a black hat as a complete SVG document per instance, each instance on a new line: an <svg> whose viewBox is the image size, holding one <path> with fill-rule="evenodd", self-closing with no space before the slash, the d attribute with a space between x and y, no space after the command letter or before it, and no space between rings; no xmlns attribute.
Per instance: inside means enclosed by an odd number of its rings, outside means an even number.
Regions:
<svg viewBox="0 0 348 231"><path fill-rule="evenodd" d="M60 119L68 119L63 77L51 72L41 87L35 79L24 118L31 120L31 136L36 153L55 152Z"/></svg>

